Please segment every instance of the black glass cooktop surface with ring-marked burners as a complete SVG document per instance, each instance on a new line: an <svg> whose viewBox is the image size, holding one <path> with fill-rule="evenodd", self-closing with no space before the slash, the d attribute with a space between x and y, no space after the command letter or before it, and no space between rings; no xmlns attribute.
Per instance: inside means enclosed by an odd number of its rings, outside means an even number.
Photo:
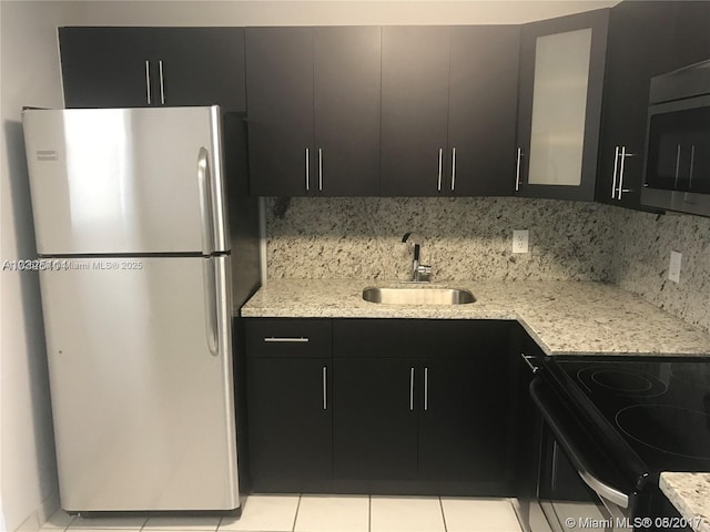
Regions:
<svg viewBox="0 0 710 532"><path fill-rule="evenodd" d="M651 472L710 471L710 359L556 364Z"/></svg>

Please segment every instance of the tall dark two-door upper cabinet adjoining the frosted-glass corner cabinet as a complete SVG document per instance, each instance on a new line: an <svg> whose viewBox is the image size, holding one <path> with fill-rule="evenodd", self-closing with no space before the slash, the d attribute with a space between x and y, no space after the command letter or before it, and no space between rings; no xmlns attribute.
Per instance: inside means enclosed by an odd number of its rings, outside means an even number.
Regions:
<svg viewBox="0 0 710 532"><path fill-rule="evenodd" d="M519 28L387 27L384 196L507 195Z"/></svg>

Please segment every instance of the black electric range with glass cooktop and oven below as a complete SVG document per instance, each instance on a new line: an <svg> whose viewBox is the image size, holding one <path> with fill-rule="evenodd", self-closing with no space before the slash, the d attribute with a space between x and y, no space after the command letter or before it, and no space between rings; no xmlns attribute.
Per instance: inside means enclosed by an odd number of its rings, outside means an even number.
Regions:
<svg viewBox="0 0 710 532"><path fill-rule="evenodd" d="M710 358L538 362L537 500L551 529L530 529L572 530L594 518L604 530L666 530L656 518L673 510L660 473L710 471Z"/></svg>

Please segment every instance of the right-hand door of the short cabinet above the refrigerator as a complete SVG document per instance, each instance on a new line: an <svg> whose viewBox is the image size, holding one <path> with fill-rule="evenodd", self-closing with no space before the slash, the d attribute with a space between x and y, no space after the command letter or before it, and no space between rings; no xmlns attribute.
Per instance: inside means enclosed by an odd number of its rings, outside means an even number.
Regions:
<svg viewBox="0 0 710 532"><path fill-rule="evenodd" d="M246 111L243 28L153 28L151 35L160 104Z"/></svg>

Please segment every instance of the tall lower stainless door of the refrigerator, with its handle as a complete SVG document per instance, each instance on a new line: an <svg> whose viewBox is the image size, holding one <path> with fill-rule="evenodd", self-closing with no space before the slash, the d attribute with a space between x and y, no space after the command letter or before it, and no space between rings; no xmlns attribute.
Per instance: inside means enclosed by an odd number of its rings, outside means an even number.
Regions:
<svg viewBox="0 0 710 532"><path fill-rule="evenodd" d="M55 263L40 283L62 508L239 508L230 257Z"/></svg>

